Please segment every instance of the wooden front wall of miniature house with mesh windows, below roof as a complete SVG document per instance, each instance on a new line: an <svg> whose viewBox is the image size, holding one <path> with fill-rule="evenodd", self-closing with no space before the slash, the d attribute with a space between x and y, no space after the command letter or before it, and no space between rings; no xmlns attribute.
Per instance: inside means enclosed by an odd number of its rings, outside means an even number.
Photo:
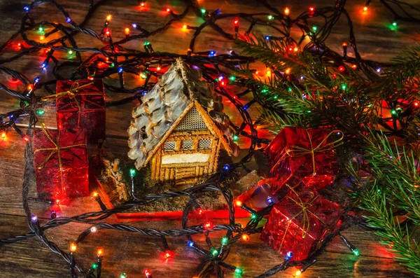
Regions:
<svg viewBox="0 0 420 278"><path fill-rule="evenodd" d="M230 151L207 112L193 102L151 155L152 179L197 183L216 172L221 147Z"/></svg>

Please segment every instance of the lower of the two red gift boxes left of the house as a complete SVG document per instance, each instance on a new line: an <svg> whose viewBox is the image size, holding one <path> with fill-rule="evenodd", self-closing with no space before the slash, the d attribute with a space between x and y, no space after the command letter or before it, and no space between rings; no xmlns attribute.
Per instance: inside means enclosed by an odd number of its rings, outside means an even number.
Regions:
<svg viewBox="0 0 420 278"><path fill-rule="evenodd" d="M38 197L62 200L89 195L85 130L34 131Z"/></svg>

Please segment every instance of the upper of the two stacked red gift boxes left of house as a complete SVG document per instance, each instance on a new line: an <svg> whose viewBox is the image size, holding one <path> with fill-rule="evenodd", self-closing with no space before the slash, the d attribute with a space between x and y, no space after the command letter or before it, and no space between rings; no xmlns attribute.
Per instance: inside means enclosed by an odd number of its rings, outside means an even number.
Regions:
<svg viewBox="0 0 420 278"><path fill-rule="evenodd" d="M90 143L105 139L105 98L102 79L57 81L55 97L59 130L83 128L87 131L87 141Z"/></svg>

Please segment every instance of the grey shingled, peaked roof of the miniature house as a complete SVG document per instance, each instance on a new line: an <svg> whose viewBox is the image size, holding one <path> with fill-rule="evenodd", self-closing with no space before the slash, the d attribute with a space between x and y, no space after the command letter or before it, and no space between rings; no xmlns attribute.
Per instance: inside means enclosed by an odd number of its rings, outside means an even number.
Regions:
<svg viewBox="0 0 420 278"><path fill-rule="evenodd" d="M201 78L201 71L191 69L179 58L160 76L155 87L141 98L142 104L133 109L134 120L127 130L131 148L128 156L136 160L137 169L147 165L183 116L197 104L211 117L225 150L230 155L239 153L232 139L234 132L229 118L223 113L222 97Z"/></svg>

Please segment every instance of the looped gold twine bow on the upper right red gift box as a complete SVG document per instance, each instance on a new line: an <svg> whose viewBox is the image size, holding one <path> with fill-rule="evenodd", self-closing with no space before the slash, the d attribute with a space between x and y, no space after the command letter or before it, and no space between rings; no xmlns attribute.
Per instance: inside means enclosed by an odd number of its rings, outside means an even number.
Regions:
<svg viewBox="0 0 420 278"><path fill-rule="evenodd" d="M312 139L311 139L311 135L309 134L309 132L307 130L304 130L305 132L307 132L308 135L308 140L309 140L309 145L310 148L303 148L300 146L293 146L290 149L288 149L286 151L286 155L289 155L292 158L295 157L299 157L302 155L311 155L312 158L312 175L314 176L316 174L316 164L315 164L315 153L323 153L324 151L330 151L333 148L339 146L342 144L342 139L344 138L344 134L343 132L341 132L340 130L332 130L332 132L330 132L319 144L318 146L316 146L314 148L314 145L312 144ZM328 140L328 138L330 138L332 136L332 134L339 134L339 138L335 141L332 141L328 144L325 144L323 146L323 144L325 143L325 141Z"/></svg>

